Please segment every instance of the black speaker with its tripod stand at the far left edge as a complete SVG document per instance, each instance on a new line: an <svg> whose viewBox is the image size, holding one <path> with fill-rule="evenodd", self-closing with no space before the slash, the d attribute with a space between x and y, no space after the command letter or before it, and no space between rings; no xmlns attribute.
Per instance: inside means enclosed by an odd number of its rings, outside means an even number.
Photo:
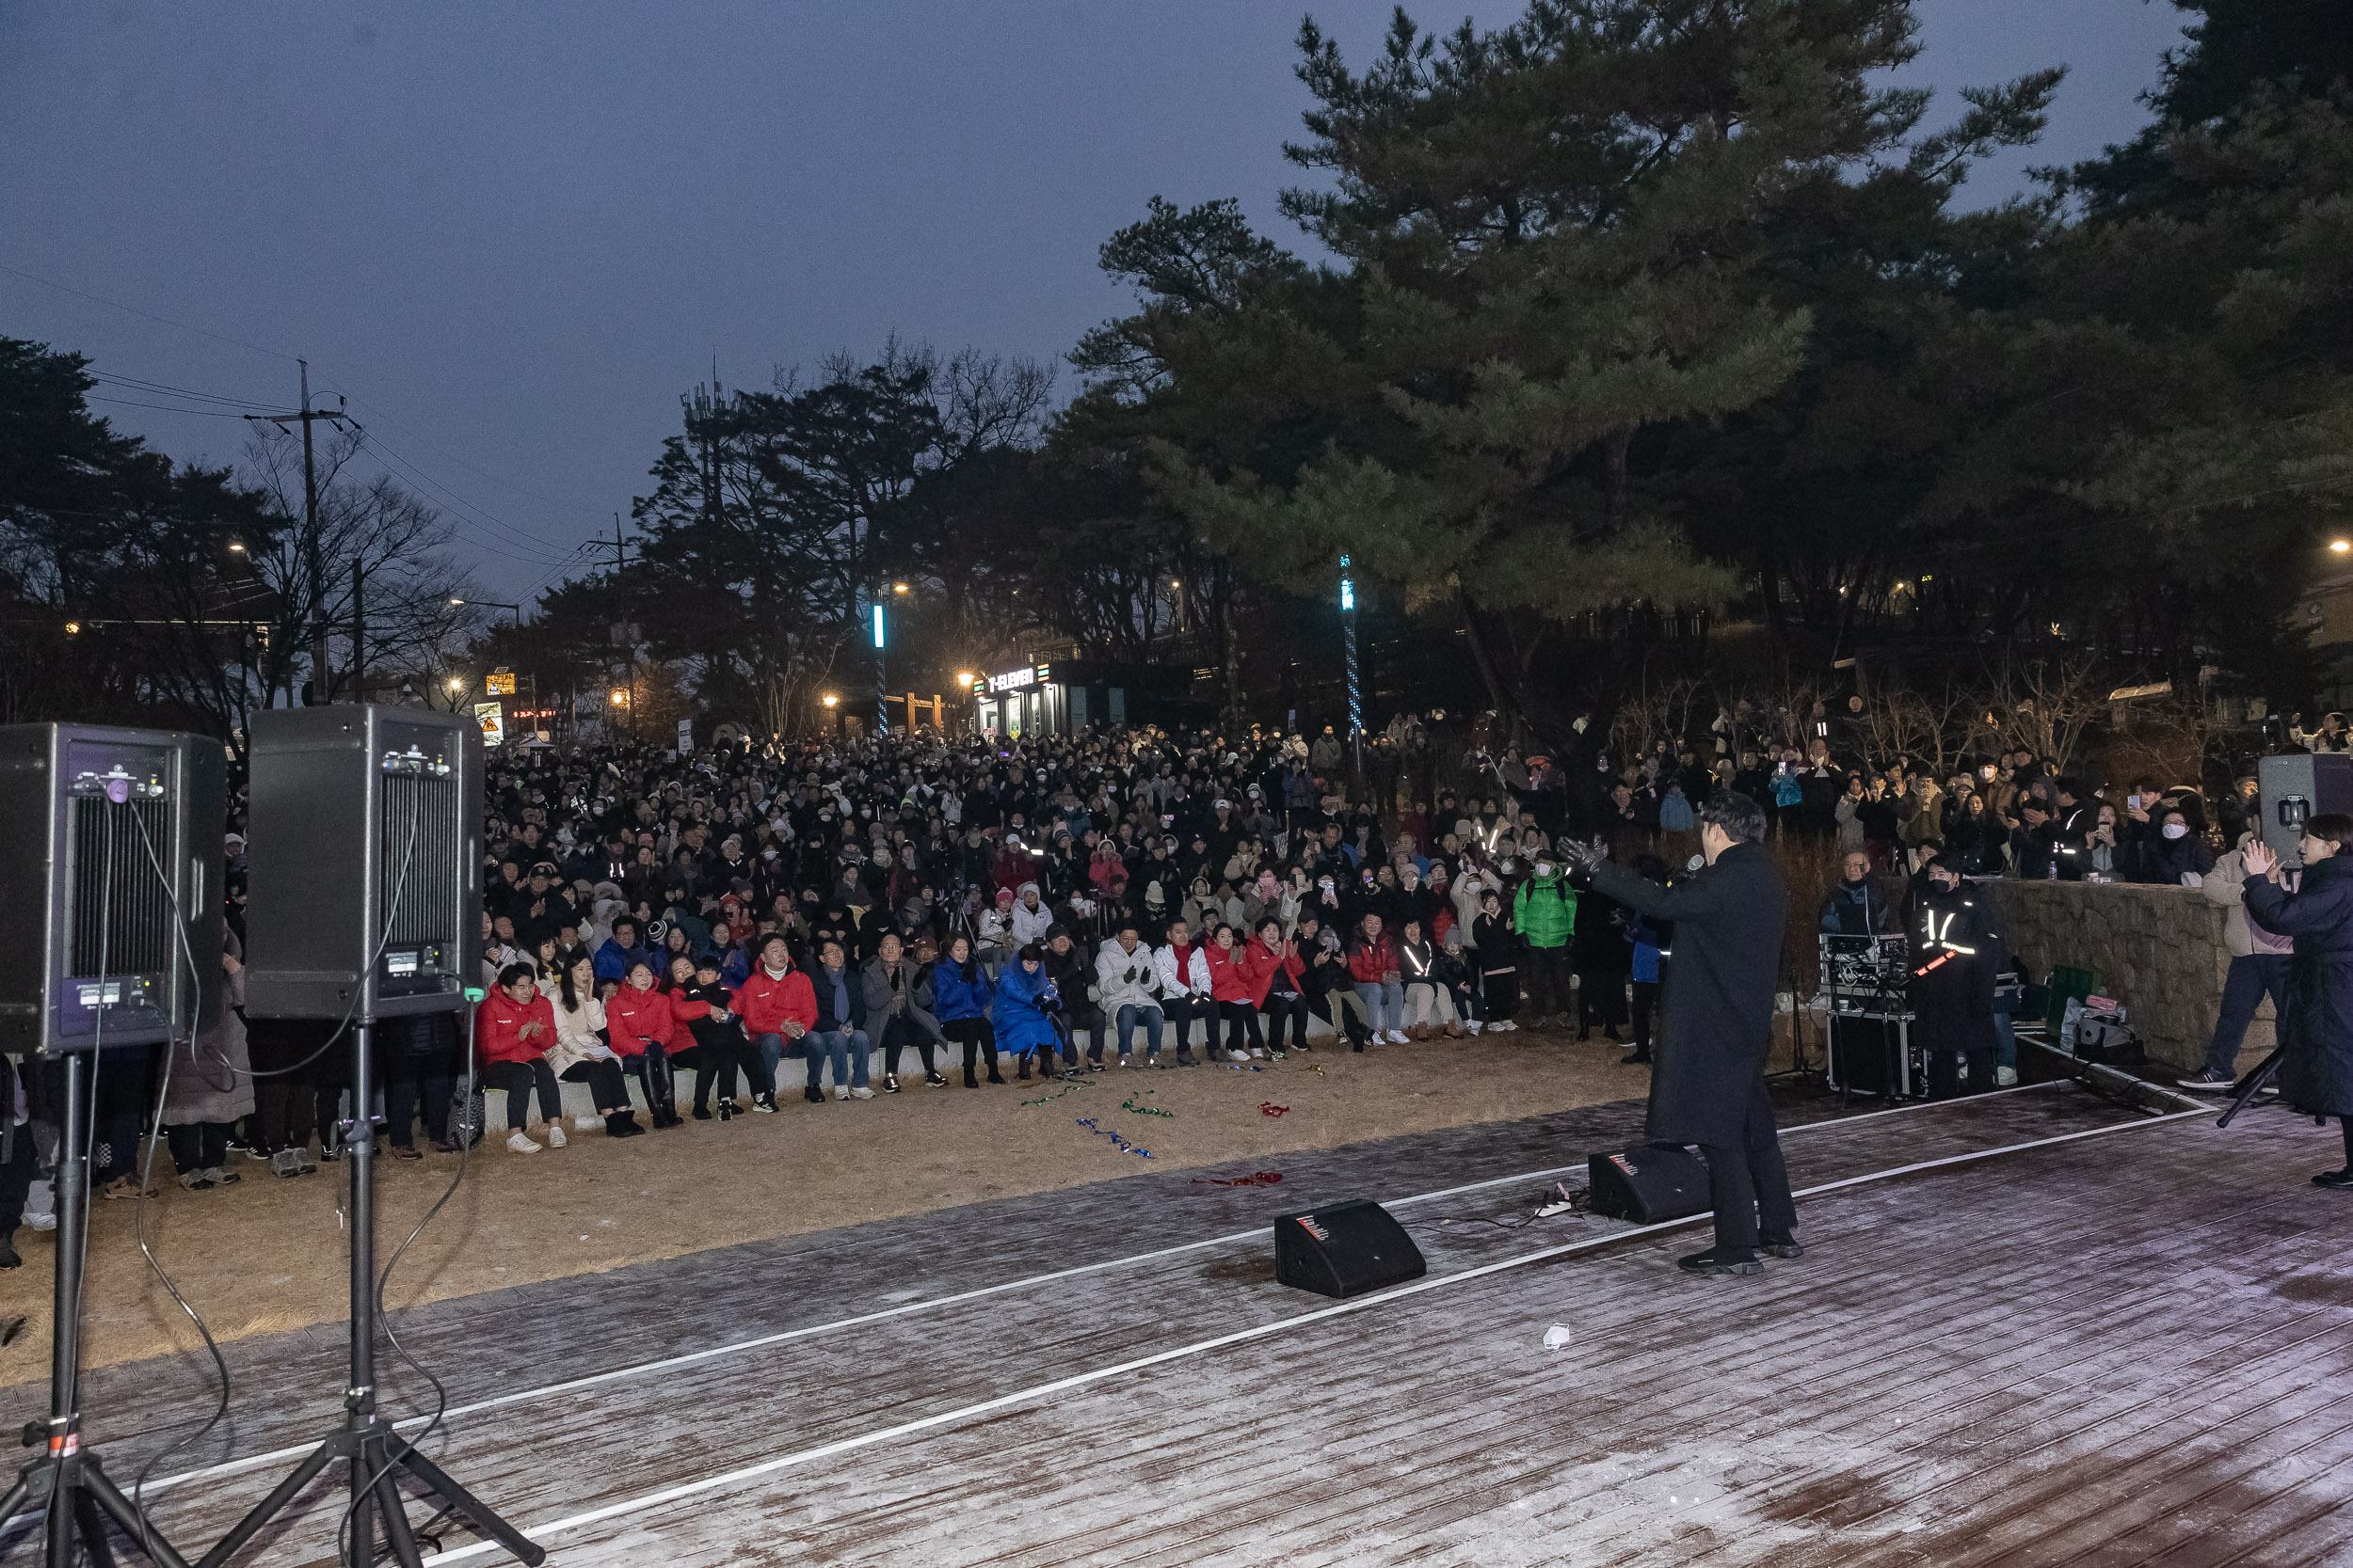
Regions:
<svg viewBox="0 0 2353 1568"><path fill-rule="evenodd" d="M49 1568L113 1563L106 1521L160 1568L186 1568L82 1448L82 1234L89 1103L106 1051L193 1034L221 992L221 743L160 729L0 729L0 1053L56 1058L56 1279L49 1418L0 1521L42 1514ZM16 1138L31 1133L16 1131Z"/></svg>

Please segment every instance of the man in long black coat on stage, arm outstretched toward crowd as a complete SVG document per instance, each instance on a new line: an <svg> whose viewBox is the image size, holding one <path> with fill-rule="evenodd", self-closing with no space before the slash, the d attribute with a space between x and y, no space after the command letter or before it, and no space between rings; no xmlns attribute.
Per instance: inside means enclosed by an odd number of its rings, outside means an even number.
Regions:
<svg viewBox="0 0 2353 1568"><path fill-rule="evenodd" d="M1697 1143L1708 1161L1715 1246L1682 1260L1692 1274L1758 1274L1760 1253L1805 1253L1793 1234L1798 1206L1765 1091L1788 884L1762 839L1765 809L1727 792L1699 809L1708 865L1673 886L1612 865L1584 844L1562 846L1600 893L1675 922L1642 1135L1659 1145Z"/></svg>

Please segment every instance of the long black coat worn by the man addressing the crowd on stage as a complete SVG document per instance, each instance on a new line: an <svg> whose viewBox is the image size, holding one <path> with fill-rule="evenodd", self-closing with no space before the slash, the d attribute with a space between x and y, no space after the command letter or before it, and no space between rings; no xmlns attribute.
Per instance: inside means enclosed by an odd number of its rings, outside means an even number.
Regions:
<svg viewBox="0 0 2353 1568"><path fill-rule="evenodd" d="M1649 1074L1652 1143L1739 1145L1765 1088L1788 884L1762 844L1734 844L1715 865L1659 886L1602 860L1593 886L1675 922L1659 999L1659 1065Z"/></svg>

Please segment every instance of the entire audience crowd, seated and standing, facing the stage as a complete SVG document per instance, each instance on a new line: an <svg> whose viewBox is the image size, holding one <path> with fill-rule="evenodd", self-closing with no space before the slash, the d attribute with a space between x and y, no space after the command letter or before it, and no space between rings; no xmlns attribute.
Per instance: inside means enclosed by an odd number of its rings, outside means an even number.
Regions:
<svg viewBox="0 0 2353 1568"><path fill-rule="evenodd" d="M391 1152L482 1133L461 1091L468 1041L515 1152L567 1140L565 1084L631 1138L793 1100L1522 1027L1598 1032L1638 1065L1673 931L1572 877L1569 842L1664 884L1694 813L1746 795L1769 839L1845 851L1824 931L1908 931L1972 877L2195 886L2217 849L2238 865L2254 811L2252 776L2209 804L2193 785L2101 790L2017 748L1948 769L1880 759L1859 701L1845 722L1727 708L1638 755L1584 726L1558 759L1485 738L1457 726L1440 743L1402 717L1367 738L1355 795L1329 729L496 750L485 997L471 1018L376 1027ZM233 816L231 1001L242 830ZM2233 1013L2252 1013L2285 940L2242 910L2231 931L2247 933ZM346 1053L320 1051L325 1030L226 1009L176 1046L160 1131L184 1187L235 1182L235 1152L282 1175L339 1154ZM2217 1058L2228 1032L2224 1018ZM122 1060L96 1086L108 1197L139 1194L158 1065ZM38 1121L26 1081L16 1119ZM0 1208L16 1164L0 1159Z"/></svg>

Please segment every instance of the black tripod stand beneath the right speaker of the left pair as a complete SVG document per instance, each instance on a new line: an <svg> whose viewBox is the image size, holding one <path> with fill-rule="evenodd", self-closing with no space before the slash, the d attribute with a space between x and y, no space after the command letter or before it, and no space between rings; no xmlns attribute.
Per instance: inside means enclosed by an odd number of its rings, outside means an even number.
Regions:
<svg viewBox="0 0 2353 1568"><path fill-rule="evenodd" d="M496 1540L532 1568L546 1561L522 1530L499 1519L489 1505L452 1481L440 1465L416 1453L376 1415L376 1119L369 1107L369 1025L351 1032L351 1121L341 1126L344 1164L351 1168L351 1380L344 1385L344 1425L329 1432L268 1497L254 1505L238 1526L219 1540L198 1568L221 1568L252 1540L261 1526L282 1514L294 1497L329 1465L351 1467L351 1552L344 1561L367 1568L376 1561L376 1521L384 1544L400 1568L421 1568L416 1533L400 1495L407 1474L445 1512L464 1519L478 1535Z"/></svg>

